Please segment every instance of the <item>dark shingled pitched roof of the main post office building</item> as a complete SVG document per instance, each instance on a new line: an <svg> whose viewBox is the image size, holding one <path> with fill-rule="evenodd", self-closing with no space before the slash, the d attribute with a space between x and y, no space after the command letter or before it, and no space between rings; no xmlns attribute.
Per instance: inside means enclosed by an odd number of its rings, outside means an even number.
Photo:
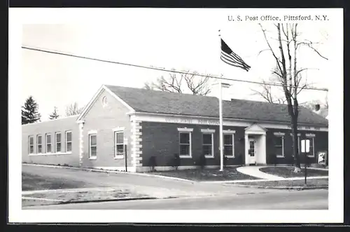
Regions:
<svg viewBox="0 0 350 232"><path fill-rule="evenodd" d="M158 90L106 86L135 111L156 114L177 114L186 116L218 117L217 97L167 93ZM223 118L245 119L251 121L275 121L289 123L286 104L272 104L251 100L223 101ZM299 123L328 125L328 120L300 107Z"/></svg>

